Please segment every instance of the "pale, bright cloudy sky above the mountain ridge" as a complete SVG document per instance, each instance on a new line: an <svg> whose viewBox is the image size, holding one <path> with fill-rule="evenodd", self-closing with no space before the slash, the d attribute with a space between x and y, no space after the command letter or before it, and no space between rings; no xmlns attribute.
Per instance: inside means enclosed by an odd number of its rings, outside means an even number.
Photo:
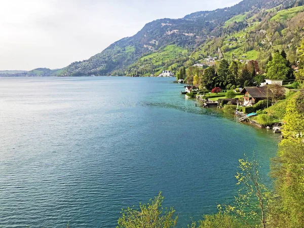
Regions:
<svg viewBox="0 0 304 228"><path fill-rule="evenodd" d="M0 0L0 70L62 68L100 53L146 23L240 0Z"/></svg>

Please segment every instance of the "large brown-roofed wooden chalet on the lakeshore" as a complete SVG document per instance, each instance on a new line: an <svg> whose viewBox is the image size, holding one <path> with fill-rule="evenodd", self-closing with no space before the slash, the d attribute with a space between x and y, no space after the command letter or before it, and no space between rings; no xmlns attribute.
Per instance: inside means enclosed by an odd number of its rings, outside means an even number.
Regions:
<svg viewBox="0 0 304 228"><path fill-rule="evenodd" d="M241 91L244 94L244 103L243 106L251 106L257 103L260 100L265 100L267 97L270 97L270 94L267 94L266 87L244 87ZM269 93L271 93L269 91Z"/></svg>

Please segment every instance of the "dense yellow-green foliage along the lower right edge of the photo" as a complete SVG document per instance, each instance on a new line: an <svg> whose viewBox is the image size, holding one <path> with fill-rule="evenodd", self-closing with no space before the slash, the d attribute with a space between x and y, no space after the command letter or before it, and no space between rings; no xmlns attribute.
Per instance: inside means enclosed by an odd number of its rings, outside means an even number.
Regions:
<svg viewBox="0 0 304 228"><path fill-rule="evenodd" d="M283 140L272 161L276 197L270 202L271 227L300 228L304 223L304 112L300 94L286 107Z"/></svg>

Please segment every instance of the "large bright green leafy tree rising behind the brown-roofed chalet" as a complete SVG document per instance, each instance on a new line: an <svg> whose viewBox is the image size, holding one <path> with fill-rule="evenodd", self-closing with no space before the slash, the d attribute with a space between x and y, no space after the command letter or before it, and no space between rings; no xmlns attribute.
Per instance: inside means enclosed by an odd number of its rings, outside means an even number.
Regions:
<svg viewBox="0 0 304 228"><path fill-rule="evenodd" d="M289 70L287 60L280 53L275 53L273 60L267 64L268 79L286 80Z"/></svg>

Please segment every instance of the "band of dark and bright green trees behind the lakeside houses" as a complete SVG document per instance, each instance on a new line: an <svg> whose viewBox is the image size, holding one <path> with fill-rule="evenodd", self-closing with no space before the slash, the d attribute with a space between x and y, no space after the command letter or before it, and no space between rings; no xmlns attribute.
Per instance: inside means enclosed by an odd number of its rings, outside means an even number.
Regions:
<svg viewBox="0 0 304 228"><path fill-rule="evenodd" d="M176 79L184 79L189 85L197 85L200 89L207 90L215 87L235 89L238 87L259 86L265 78L271 80L294 79L291 63L287 60L284 50L271 54L267 61L265 73L261 74L260 72L262 71L255 60L241 63L240 61L228 62L222 59L215 66L210 66L206 69L191 66L185 70L184 67L181 67ZM304 72L304 70L301 72ZM302 74L304 75L304 73Z"/></svg>

